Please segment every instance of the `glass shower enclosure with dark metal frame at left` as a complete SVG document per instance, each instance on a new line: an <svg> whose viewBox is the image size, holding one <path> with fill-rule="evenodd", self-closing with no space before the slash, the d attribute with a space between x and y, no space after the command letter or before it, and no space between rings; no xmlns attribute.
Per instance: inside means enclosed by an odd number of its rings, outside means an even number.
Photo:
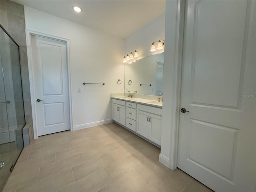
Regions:
<svg viewBox="0 0 256 192"><path fill-rule="evenodd" d="M0 186L10 175L22 149L25 125L19 47L2 28L0 32ZM3 164L4 162L4 164Z"/></svg>

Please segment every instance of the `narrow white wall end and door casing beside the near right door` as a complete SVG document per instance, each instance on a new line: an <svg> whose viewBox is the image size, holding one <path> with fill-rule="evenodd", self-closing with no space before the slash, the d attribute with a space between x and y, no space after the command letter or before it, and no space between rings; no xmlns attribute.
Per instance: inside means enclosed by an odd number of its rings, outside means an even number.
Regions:
<svg viewBox="0 0 256 192"><path fill-rule="evenodd" d="M173 9L168 10L170 7ZM173 17L175 17L175 27L168 24L169 18L171 20ZM172 170L177 168L178 158L184 24L185 0L166 1L165 34L175 35L165 36L165 52L170 54L164 54L164 63L166 63L164 72L169 72L170 78L166 79L166 76L163 78L164 104L159 161Z"/></svg>

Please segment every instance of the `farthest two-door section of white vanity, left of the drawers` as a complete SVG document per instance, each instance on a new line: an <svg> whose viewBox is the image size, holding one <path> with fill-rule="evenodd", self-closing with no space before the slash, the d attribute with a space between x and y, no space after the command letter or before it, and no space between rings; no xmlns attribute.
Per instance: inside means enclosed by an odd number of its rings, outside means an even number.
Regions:
<svg viewBox="0 0 256 192"><path fill-rule="evenodd" d="M112 119L126 126L126 102L112 99Z"/></svg>

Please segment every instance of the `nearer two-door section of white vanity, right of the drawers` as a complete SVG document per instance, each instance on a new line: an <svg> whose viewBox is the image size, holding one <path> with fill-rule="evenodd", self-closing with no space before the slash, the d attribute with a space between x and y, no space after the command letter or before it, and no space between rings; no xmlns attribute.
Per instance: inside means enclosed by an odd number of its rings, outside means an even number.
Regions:
<svg viewBox="0 0 256 192"><path fill-rule="evenodd" d="M162 109L146 105L137 105L136 132L161 145Z"/></svg>

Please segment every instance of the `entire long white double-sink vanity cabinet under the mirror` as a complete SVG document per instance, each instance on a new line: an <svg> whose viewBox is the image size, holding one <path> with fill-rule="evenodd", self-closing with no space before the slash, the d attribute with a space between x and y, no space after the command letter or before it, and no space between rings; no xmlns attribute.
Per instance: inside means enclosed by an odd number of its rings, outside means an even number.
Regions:
<svg viewBox="0 0 256 192"><path fill-rule="evenodd" d="M112 119L159 147L161 146L162 108L149 105L145 100L112 98Z"/></svg>

